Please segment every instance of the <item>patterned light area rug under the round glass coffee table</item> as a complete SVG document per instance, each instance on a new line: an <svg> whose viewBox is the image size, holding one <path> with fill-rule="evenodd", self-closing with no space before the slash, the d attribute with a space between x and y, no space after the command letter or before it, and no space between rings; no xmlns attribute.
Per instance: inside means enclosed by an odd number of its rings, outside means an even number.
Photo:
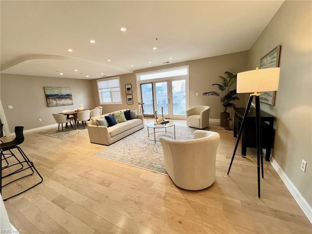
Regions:
<svg viewBox="0 0 312 234"><path fill-rule="evenodd" d="M168 128L171 131L173 128ZM150 133L151 133L151 129ZM173 131L173 130L172 130ZM187 126L176 126L176 139L193 139L195 129ZM168 135L158 133L159 137L169 137ZM167 174L164 168L164 158L161 143L154 142L147 138L147 127L136 133L125 137L105 149L97 152L93 156L98 156L113 161L125 163L150 171Z"/></svg>

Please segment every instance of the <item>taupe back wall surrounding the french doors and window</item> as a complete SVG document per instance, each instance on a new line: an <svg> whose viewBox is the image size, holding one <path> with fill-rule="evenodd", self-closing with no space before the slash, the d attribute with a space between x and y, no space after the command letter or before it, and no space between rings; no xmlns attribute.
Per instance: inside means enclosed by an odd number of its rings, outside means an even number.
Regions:
<svg viewBox="0 0 312 234"><path fill-rule="evenodd" d="M219 119L220 112L222 112L222 106L218 97L207 97L202 96L202 93L208 91L217 91L219 90L212 86L213 83L220 83L219 76L224 76L224 72L229 71L233 74L238 72L243 72L247 70L247 59L248 51L237 52L227 55L215 56L204 59L195 59L186 62L173 63L169 65L163 65L158 67L146 68L134 71L134 73L120 75L120 84L121 84L121 94L122 94L122 105L106 105L103 106L103 113L109 113L112 111L117 111L120 109L137 109L137 73L156 71L171 67L178 66L189 66L189 81L190 81L190 106L195 105L208 105L211 107L210 118ZM127 105L126 103L126 91L125 85L132 85L132 95L133 103L132 105ZM92 83L93 95L96 100L97 105L99 105L98 91L97 91L97 81L93 80ZM234 89L235 87L233 87ZM196 96L198 93L198 96ZM245 95L239 95L241 100L235 101L237 107L245 106ZM233 109L228 109L228 112L234 114ZM232 116L232 115L231 115Z"/></svg>

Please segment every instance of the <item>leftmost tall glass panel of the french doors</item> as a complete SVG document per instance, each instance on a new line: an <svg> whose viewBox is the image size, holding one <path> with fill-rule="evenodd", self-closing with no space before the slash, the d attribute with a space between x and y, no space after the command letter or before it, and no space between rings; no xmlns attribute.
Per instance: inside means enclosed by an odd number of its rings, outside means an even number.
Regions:
<svg viewBox="0 0 312 234"><path fill-rule="evenodd" d="M154 117L153 83L141 84L141 100L144 103L144 117Z"/></svg>

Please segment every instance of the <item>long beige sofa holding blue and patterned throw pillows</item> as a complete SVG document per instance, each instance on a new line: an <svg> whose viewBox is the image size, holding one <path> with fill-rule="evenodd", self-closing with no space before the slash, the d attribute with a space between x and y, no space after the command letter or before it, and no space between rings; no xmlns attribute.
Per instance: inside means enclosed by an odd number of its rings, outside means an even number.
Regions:
<svg viewBox="0 0 312 234"><path fill-rule="evenodd" d="M122 110L123 111L123 110ZM102 115L100 117L105 117L109 114ZM98 126L95 119L92 119L87 122L88 133L91 143L97 143L101 145L110 145L120 140L124 137L129 136L137 132L138 130L144 128L144 119L143 115L137 114L137 118L127 120L122 123L117 123L114 126Z"/></svg>

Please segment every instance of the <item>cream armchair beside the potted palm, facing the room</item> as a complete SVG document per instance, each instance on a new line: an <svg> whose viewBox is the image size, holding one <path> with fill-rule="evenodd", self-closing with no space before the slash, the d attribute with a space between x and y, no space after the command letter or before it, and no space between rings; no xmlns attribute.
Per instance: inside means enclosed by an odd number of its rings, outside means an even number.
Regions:
<svg viewBox="0 0 312 234"><path fill-rule="evenodd" d="M210 106L193 106L186 110L186 125L193 128L209 127Z"/></svg>

